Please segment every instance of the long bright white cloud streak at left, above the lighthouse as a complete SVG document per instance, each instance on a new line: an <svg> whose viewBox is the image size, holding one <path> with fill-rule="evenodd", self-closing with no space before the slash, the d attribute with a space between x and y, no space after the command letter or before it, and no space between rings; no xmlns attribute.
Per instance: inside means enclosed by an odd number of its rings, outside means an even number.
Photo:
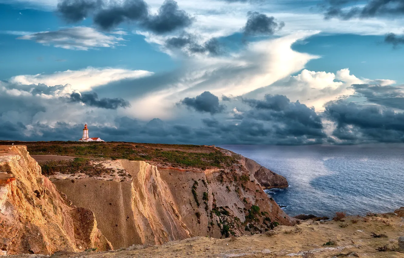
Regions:
<svg viewBox="0 0 404 258"><path fill-rule="evenodd" d="M153 72L143 70L126 70L117 68L93 68L82 70L67 70L53 74L19 75L9 79L12 83L31 85L43 83L46 85L72 85L72 89L78 91L90 91L94 87L105 85L123 79L140 78L150 76Z"/></svg>

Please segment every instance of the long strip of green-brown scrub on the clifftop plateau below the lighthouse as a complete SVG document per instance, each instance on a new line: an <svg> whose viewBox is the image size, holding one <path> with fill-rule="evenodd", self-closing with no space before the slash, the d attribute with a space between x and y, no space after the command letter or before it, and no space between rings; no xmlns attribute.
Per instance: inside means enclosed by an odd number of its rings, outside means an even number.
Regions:
<svg viewBox="0 0 404 258"><path fill-rule="evenodd" d="M0 142L9 144L9 142ZM128 142L19 142L33 155L64 155L84 158L128 159L170 163L176 167L231 167L232 157L206 146L133 144Z"/></svg>

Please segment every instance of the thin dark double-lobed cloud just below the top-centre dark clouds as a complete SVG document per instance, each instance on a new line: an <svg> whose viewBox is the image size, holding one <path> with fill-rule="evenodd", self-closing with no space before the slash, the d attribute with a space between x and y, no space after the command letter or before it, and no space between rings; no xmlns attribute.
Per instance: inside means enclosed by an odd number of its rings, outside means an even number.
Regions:
<svg viewBox="0 0 404 258"><path fill-rule="evenodd" d="M223 49L217 38L211 38L203 44L199 44L196 36L189 33L183 33L179 37L169 38L166 41L166 47L168 49L183 49L190 53L207 53L210 55L223 53Z"/></svg>

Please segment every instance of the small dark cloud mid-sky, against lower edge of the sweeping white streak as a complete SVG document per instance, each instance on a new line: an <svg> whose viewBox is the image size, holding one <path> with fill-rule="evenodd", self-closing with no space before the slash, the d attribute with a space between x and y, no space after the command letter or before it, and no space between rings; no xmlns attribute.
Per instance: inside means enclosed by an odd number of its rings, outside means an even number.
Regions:
<svg viewBox="0 0 404 258"><path fill-rule="evenodd" d="M217 114L225 110L224 105L219 104L219 98L209 91L203 92L193 98L186 97L181 100L181 104L193 108L198 112L208 112L210 114Z"/></svg>

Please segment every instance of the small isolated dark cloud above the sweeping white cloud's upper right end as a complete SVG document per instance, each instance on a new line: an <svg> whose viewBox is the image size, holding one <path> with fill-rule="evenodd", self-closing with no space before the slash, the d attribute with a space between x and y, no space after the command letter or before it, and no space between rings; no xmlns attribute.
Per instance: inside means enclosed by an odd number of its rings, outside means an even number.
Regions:
<svg viewBox="0 0 404 258"><path fill-rule="evenodd" d="M245 35L272 35L285 26L283 21L278 23L273 16L268 17L263 13L248 12L247 17L243 27Z"/></svg>

